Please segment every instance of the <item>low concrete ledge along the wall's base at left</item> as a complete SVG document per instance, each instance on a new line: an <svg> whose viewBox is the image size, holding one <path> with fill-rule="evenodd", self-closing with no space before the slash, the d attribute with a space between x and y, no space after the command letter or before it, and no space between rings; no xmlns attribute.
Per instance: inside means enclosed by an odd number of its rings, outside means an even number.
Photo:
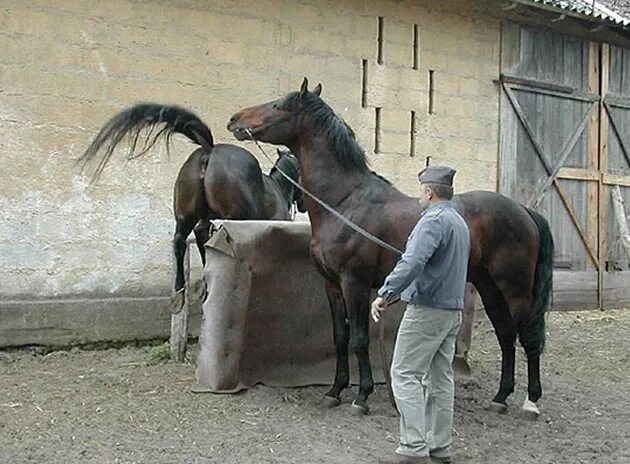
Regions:
<svg viewBox="0 0 630 464"><path fill-rule="evenodd" d="M0 348L166 339L169 307L165 296L2 301ZM196 337L201 308L194 309L190 335Z"/></svg>

